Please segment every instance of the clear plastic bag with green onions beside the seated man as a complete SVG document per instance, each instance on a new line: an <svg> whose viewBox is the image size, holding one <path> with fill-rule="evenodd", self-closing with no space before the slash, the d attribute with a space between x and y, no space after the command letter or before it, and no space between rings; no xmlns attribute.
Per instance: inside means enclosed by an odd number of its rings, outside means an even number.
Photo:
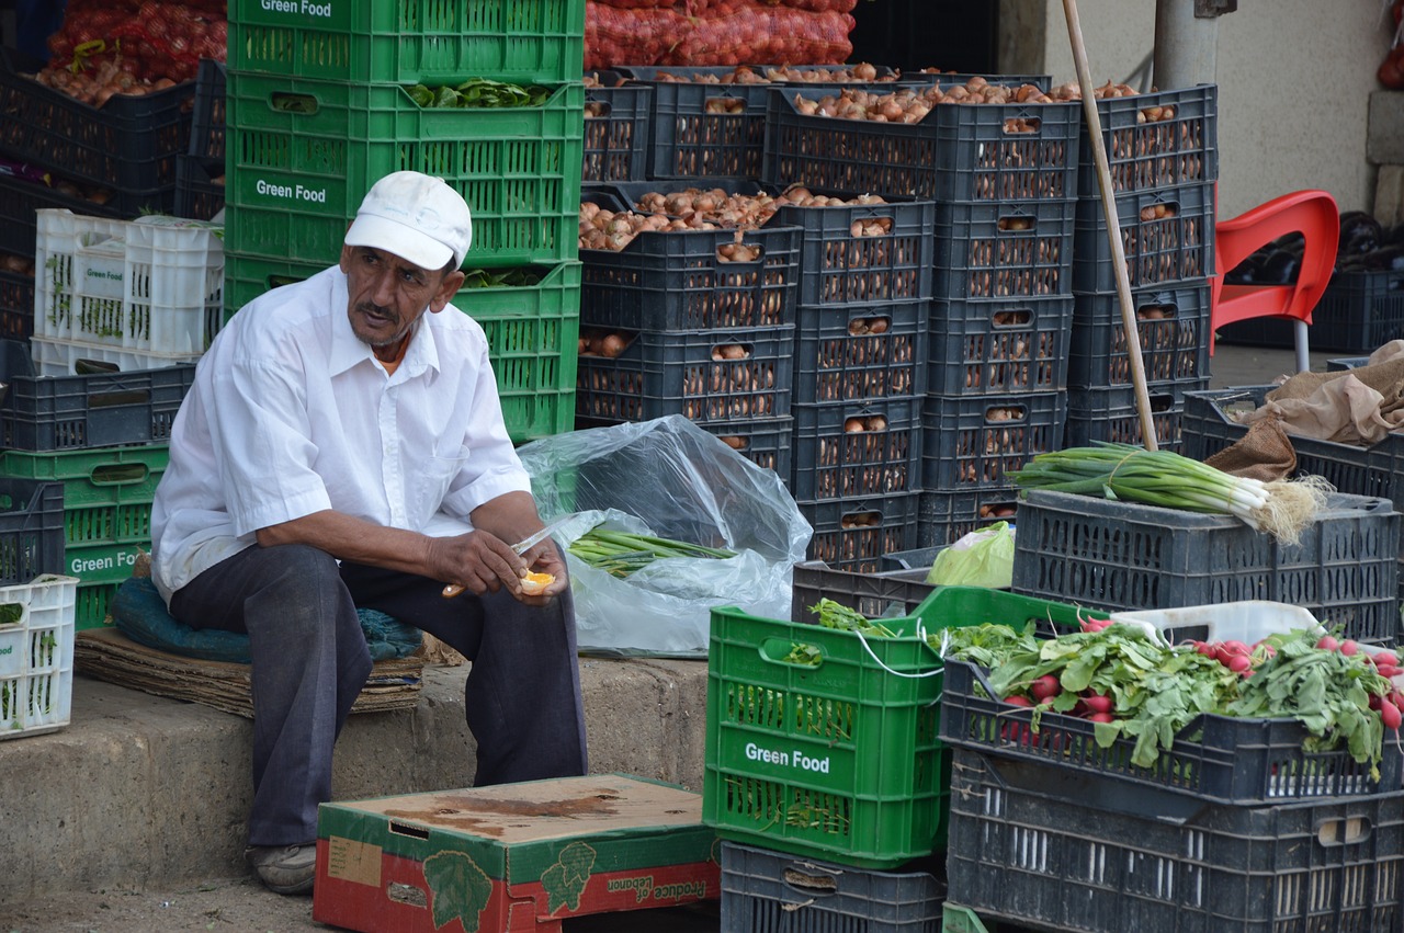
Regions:
<svg viewBox="0 0 1404 933"><path fill-rule="evenodd" d="M706 657L713 606L789 619L792 571L813 533L789 490L681 415L571 431L518 450L542 518L576 519L737 556L657 560L628 578L567 554L583 652Z"/></svg>

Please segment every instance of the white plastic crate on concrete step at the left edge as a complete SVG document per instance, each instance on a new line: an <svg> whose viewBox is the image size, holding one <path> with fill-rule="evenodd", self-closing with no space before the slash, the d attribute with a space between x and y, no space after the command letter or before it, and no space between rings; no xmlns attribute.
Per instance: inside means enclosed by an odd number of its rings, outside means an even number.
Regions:
<svg viewBox="0 0 1404 933"><path fill-rule="evenodd" d="M0 739L69 724L77 585L45 574L0 586Z"/></svg>

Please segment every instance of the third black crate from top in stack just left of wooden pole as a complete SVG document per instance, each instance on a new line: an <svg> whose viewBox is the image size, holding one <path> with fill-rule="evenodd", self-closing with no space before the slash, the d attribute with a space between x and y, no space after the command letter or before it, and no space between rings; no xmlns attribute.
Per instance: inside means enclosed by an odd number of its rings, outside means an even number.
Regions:
<svg viewBox="0 0 1404 933"><path fill-rule="evenodd" d="M966 397L1061 391L1071 328L1071 296L934 302L927 391Z"/></svg>

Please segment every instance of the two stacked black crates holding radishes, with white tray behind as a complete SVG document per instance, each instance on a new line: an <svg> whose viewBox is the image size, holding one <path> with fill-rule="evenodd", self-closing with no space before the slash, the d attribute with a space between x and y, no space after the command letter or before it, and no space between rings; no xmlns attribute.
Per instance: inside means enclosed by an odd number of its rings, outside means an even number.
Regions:
<svg viewBox="0 0 1404 933"><path fill-rule="evenodd" d="M1314 624L1272 602L1123 619L1174 643L1254 644ZM1134 737L1098 741L1098 724L1033 718L994 696L984 669L946 665L948 905L988 929L1404 929L1401 753L1389 732L1375 770L1294 718L1205 714L1143 762Z"/></svg>

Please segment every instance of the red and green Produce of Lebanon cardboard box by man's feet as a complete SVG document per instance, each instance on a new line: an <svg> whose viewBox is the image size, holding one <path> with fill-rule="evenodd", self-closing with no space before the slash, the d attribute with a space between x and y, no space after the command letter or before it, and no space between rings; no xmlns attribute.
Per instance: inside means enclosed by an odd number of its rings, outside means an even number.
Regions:
<svg viewBox="0 0 1404 933"><path fill-rule="evenodd" d="M559 933L720 897L702 797L629 774L323 804L312 916L364 933Z"/></svg>

